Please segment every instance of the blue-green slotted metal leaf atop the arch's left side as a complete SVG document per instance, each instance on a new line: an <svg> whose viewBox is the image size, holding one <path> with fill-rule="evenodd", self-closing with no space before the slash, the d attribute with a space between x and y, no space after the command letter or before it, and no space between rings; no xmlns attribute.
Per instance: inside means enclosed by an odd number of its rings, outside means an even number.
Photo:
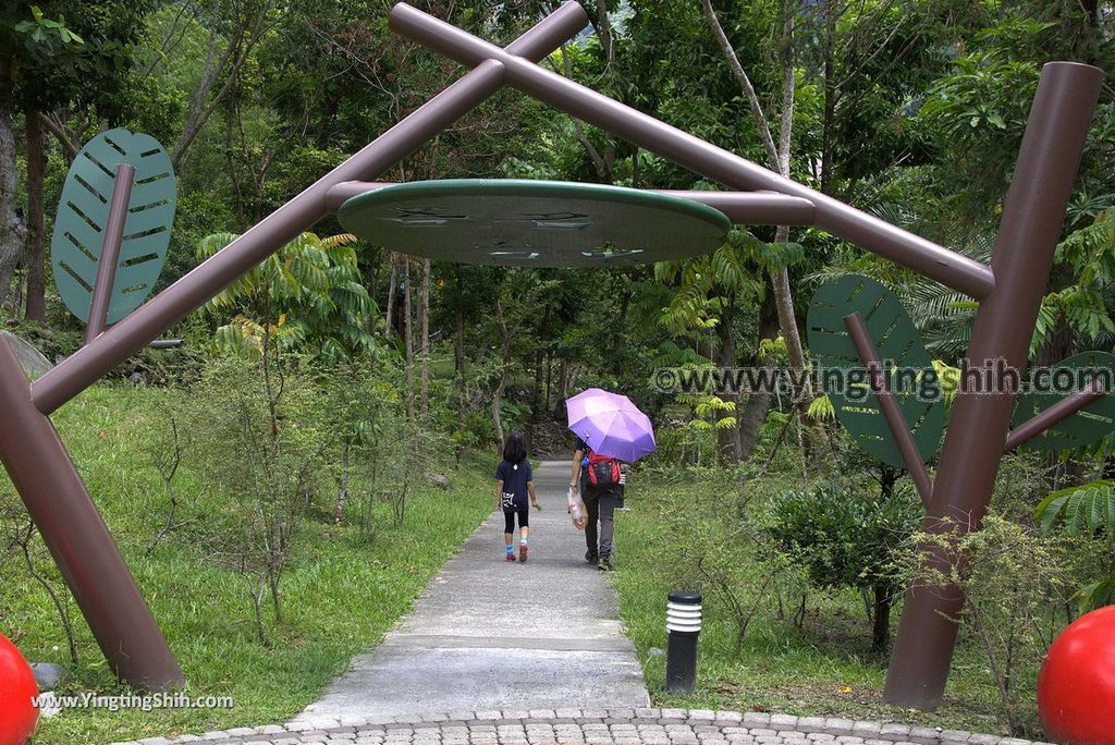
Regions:
<svg viewBox="0 0 1115 745"><path fill-rule="evenodd" d="M139 307L166 261L177 199L171 158L148 135L127 129L97 135L81 148L66 175L50 242L58 292L83 321L89 318L116 166L122 163L134 166L136 173L108 323Z"/></svg>

